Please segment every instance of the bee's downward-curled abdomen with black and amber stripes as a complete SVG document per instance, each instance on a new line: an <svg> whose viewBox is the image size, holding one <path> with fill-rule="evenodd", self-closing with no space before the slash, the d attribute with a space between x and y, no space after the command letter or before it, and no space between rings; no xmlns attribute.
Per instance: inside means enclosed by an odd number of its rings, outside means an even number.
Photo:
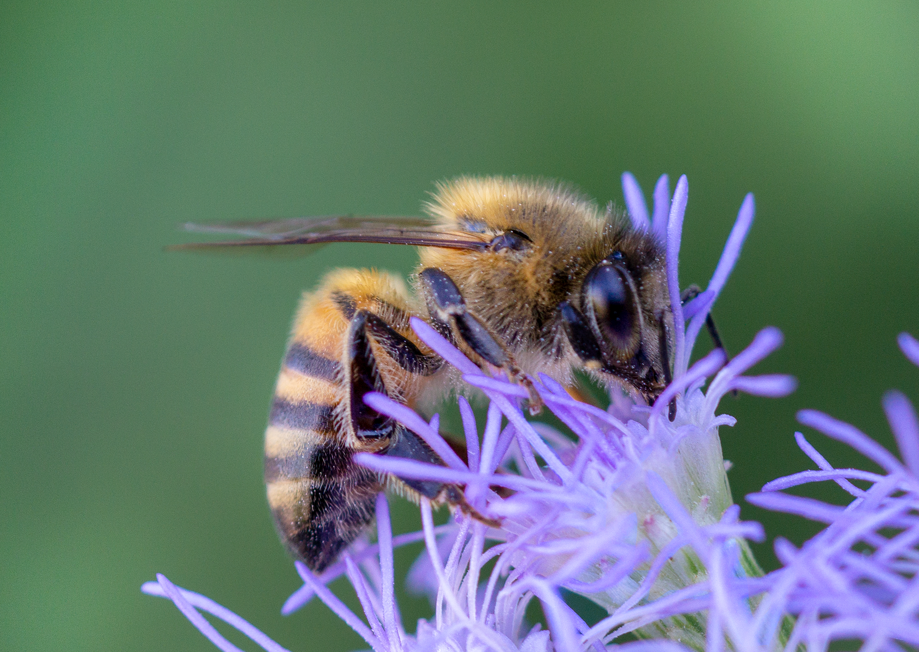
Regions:
<svg viewBox="0 0 919 652"><path fill-rule="evenodd" d="M378 474L351 461L342 372L348 322L356 306L371 309L380 296L404 302L387 277L356 270L304 296L268 418L268 505L285 545L317 572L372 522L382 489Z"/></svg>

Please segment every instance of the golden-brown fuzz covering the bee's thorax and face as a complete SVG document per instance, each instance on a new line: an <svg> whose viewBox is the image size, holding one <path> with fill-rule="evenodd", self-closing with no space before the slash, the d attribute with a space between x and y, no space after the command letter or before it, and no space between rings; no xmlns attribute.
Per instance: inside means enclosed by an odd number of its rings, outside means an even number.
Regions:
<svg viewBox="0 0 919 652"><path fill-rule="evenodd" d="M610 253L628 257L649 314L660 316L668 301L661 289L663 247L618 213L601 212L570 186L460 177L438 185L425 209L451 229L526 236L516 251L424 247L419 269L446 272L467 305L505 337L529 373L546 372L562 382L570 378L571 362L561 360L565 344L556 311L563 300L580 302L584 276ZM656 350L657 344L649 348Z"/></svg>

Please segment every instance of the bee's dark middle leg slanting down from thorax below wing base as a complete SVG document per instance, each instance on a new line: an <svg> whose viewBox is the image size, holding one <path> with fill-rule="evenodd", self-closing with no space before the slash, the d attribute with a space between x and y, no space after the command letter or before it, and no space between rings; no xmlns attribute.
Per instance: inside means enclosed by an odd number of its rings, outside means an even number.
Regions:
<svg viewBox="0 0 919 652"><path fill-rule="evenodd" d="M453 279L434 267L422 270L418 276L431 317L447 325L450 334L454 334L455 339L468 346L484 362L504 369L508 376L527 388L529 412L539 414L542 411L542 399L539 399L532 381L516 364L514 356L501 343L500 337L466 308L466 301L459 294L459 287Z"/></svg>

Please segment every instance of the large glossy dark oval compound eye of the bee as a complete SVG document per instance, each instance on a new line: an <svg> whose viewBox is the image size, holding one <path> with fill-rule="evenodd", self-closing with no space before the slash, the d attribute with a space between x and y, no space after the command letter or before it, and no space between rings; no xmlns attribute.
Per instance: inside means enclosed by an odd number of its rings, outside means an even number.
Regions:
<svg viewBox="0 0 919 652"><path fill-rule="evenodd" d="M628 272L619 265L596 265L584 279L584 309L592 313L601 339L613 349L629 350L637 309Z"/></svg>

